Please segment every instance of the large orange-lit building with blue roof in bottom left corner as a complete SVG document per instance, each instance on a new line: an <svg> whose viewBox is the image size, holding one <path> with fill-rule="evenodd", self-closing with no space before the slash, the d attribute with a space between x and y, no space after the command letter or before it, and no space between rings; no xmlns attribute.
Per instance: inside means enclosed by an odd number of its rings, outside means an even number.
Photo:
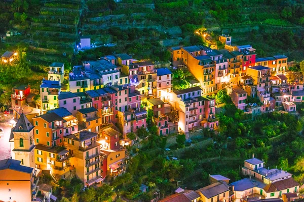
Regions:
<svg viewBox="0 0 304 202"><path fill-rule="evenodd" d="M0 161L0 201L34 201L35 171L20 164L21 161L13 159Z"/></svg>

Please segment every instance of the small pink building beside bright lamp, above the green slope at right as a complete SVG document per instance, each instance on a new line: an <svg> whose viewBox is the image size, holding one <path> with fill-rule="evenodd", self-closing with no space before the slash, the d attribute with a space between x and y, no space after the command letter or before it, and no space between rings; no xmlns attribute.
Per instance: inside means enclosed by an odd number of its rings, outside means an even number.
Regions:
<svg viewBox="0 0 304 202"><path fill-rule="evenodd" d="M227 93L230 95L232 102L240 110L245 110L247 92L237 85L227 86Z"/></svg>

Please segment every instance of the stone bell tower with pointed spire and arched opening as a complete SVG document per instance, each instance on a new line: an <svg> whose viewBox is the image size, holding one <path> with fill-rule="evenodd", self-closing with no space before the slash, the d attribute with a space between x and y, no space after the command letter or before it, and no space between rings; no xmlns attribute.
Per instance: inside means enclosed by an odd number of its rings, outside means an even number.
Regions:
<svg viewBox="0 0 304 202"><path fill-rule="evenodd" d="M34 161L34 126L24 114L21 114L16 126L12 128L12 158L21 161L21 165L35 168Z"/></svg>

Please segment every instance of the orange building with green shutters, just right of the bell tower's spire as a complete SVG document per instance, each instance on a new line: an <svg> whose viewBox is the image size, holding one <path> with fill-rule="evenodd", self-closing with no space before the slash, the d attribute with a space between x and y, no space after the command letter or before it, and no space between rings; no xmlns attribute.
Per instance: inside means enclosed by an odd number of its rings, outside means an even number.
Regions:
<svg viewBox="0 0 304 202"><path fill-rule="evenodd" d="M63 145L66 121L56 113L47 113L33 118L35 144L46 146Z"/></svg>

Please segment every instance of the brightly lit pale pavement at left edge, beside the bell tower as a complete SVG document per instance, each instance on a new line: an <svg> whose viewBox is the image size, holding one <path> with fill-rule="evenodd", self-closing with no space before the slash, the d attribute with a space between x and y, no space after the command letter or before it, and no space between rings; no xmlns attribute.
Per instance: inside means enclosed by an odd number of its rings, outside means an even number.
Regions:
<svg viewBox="0 0 304 202"><path fill-rule="evenodd" d="M4 130L4 135L0 138L0 160L7 159L11 157L11 146L10 146L10 124L1 123L0 127Z"/></svg>

